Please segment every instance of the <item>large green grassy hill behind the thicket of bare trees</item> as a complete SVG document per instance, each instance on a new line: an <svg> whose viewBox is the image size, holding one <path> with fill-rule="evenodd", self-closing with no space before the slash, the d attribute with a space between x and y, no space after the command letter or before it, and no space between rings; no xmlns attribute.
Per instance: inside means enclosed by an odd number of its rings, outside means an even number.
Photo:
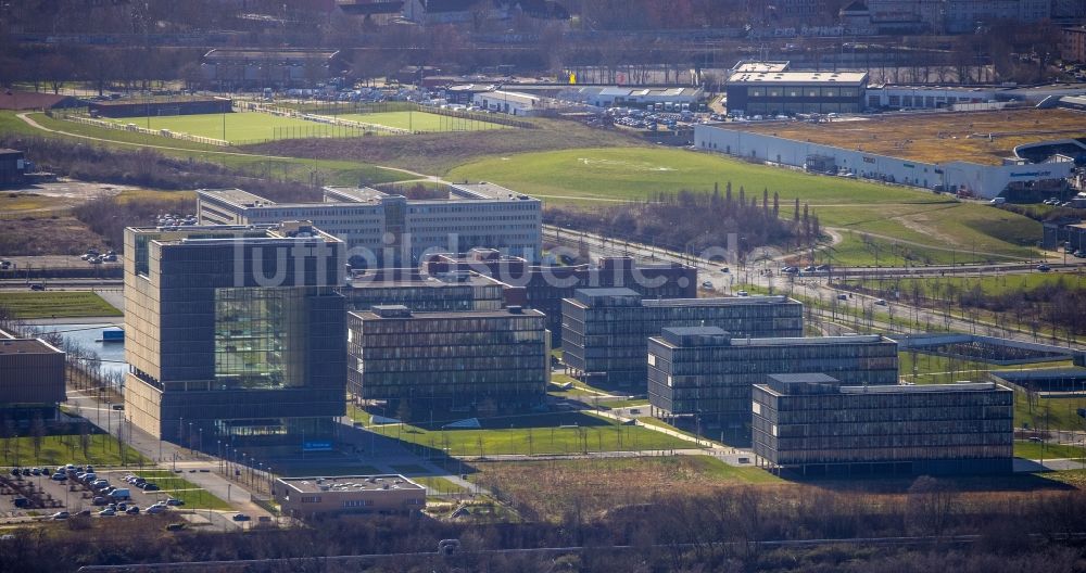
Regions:
<svg viewBox="0 0 1086 573"><path fill-rule="evenodd" d="M577 149L495 156L452 169L451 180L485 180L543 199L548 205L602 207L652 198L658 192L721 192L732 183L748 198L763 190L781 198L782 214L791 214L798 198L808 203L825 227L881 235L915 247L975 252L977 258L1030 257L1040 239L1040 224L1027 217L947 195L816 176L754 165L733 158L660 148ZM844 253L843 253L844 255ZM849 263L873 262L858 254ZM855 258L856 260L851 260ZM942 256L930 255L942 262ZM949 260L948 260L949 262Z"/></svg>

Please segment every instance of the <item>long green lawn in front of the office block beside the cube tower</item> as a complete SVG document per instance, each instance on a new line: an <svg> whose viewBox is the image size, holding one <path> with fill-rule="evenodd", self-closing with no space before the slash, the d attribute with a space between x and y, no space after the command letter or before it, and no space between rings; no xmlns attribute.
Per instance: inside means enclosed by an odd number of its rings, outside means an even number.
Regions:
<svg viewBox="0 0 1086 573"><path fill-rule="evenodd" d="M660 432L622 425L581 412L481 419L482 430L442 430L439 425L391 424L371 428L380 434L453 456L505 454L577 454L640 449L691 448L693 444Z"/></svg>

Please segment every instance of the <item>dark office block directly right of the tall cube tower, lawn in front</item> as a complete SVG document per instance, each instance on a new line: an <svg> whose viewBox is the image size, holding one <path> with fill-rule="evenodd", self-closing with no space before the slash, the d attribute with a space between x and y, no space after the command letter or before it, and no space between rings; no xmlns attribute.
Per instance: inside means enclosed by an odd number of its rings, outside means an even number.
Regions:
<svg viewBox="0 0 1086 573"><path fill-rule="evenodd" d="M434 411L514 410L543 404L551 345L543 314L509 307L467 313L412 313L402 305L351 313L350 390L406 400L413 416Z"/></svg>

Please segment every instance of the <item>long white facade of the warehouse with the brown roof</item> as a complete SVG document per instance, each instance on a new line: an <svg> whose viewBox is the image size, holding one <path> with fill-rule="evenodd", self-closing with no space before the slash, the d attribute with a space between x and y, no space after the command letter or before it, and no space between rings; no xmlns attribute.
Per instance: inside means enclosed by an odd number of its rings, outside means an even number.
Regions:
<svg viewBox="0 0 1086 573"><path fill-rule="evenodd" d="M835 169L859 178L938 189L950 192L968 190L976 196L994 199L1012 184L1048 183L1068 178L1073 162L1032 164L1026 161L1007 165L981 165L961 161L922 163L864 151L797 141L766 133L729 129L721 125L694 128L697 149L737 157L807 167L812 158L830 163ZM821 170L821 169L819 169Z"/></svg>

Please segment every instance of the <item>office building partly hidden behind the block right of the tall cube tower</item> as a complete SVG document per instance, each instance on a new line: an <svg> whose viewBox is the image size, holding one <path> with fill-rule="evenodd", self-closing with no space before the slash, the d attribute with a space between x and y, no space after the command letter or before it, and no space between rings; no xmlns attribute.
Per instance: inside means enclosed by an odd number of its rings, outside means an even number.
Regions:
<svg viewBox="0 0 1086 573"><path fill-rule="evenodd" d="M416 313L456 313L500 310L507 290L469 270L427 275L416 269L376 269L353 272L341 292L348 310L403 305Z"/></svg>

